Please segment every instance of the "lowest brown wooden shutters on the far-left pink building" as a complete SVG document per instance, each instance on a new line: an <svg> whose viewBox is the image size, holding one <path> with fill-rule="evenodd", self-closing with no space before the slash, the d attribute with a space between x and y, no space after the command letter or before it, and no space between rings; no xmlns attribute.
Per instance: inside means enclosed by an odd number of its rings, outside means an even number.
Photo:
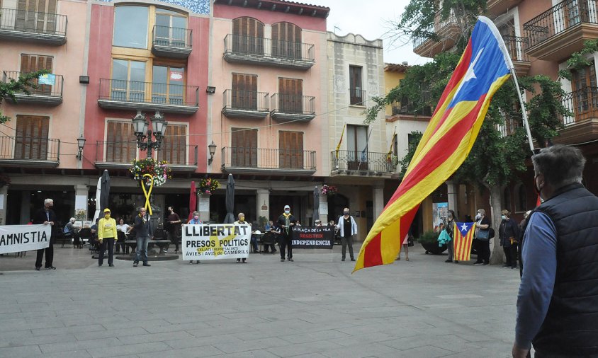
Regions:
<svg viewBox="0 0 598 358"><path fill-rule="evenodd" d="M50 117L16 116L15 159L47 160L47 132Z"/></svg>

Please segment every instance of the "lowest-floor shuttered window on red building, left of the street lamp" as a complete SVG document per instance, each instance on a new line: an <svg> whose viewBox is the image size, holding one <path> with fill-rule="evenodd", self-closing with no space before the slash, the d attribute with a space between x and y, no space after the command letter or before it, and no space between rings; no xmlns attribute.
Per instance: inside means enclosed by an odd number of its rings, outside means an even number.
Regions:
<svg viewBox="0 0 598 358"><path fill-rule="evenodd" d="M106 160L129 163L137 154L137 142L130 122L108 121L106 126Z"/></svg>

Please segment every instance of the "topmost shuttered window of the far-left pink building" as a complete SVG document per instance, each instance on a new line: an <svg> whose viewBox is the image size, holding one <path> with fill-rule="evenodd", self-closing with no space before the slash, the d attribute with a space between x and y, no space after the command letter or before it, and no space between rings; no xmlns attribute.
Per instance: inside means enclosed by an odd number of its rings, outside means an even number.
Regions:
<svg viewBox="0 0 598 358"><path fill-rule="evenodd" d="M18 0L15 29L37 33L56 30L57 0Z"/></svg>

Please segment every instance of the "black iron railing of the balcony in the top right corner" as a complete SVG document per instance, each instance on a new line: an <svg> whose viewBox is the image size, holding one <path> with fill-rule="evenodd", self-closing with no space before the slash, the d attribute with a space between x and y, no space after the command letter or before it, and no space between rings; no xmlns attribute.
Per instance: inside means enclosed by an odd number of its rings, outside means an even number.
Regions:
<svg viewBox="0 0 598 358"><path fill-rule="evenodd" d="M598 23L598 0L566 0L524 23L528 48L580 23Z"/></svg>

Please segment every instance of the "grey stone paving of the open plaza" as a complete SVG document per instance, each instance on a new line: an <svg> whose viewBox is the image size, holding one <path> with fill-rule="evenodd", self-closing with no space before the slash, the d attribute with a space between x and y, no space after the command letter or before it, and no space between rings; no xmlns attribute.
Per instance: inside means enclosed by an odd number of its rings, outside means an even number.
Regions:
<svg viewBox="0 0 598 358"><path fill-rule="evenodd" d="M510 357L518 270L411 249L353 275L339 246L152 267L56 246L40 272L5 255L0 357Z"/></svg>

